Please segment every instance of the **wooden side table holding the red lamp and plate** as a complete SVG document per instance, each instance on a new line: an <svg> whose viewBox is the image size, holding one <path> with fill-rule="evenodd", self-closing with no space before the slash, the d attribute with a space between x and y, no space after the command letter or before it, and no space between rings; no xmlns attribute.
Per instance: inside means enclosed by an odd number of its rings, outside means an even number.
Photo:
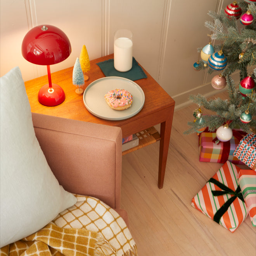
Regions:
<svg viewBox="0 0 256 256"><path fill-rule="evenodd" d="M113 54L90 61L91 69L88 73L89 80L85 82L84 89L94 80L104 77L96 63L112 59ZM142 67L143 68L143 67ZM163 88L145 71L147 78L135 82L142 88L145 94L145 104L142 110L135 116L119 121L110 121L93 116L83 104L83 95L75 93L73 85L73 67L62 69L52 73L52 82L60 85L66 94L65 101L59 106L46 107L37 100L38 91L48 83L48 77L41 76L25 82L26 92L31 106L31 111L62 118L76 119L80 121L100 123L104 125L119 126L122 128L123 137L145 130L151 126L161 124L158 187L163 188L167 154L173 121L175 101L163 90Z"/></svg>

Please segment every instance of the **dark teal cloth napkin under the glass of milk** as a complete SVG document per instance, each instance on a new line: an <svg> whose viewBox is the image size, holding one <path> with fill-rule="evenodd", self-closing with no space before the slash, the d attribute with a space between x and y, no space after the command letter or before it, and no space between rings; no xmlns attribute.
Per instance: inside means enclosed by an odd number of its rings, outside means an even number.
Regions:
<svg viewBox="0 0 256 256"><path fill-rule="evenodd" d="M114 68L114 59L109 59L107 61L99 62L97 65L100 67L101 71L105 76L120 76L132 81L139 80L142 78L147 78L142 67L138 65L138 62L133 57L132 67L127 72L119 72Z"/></svg>

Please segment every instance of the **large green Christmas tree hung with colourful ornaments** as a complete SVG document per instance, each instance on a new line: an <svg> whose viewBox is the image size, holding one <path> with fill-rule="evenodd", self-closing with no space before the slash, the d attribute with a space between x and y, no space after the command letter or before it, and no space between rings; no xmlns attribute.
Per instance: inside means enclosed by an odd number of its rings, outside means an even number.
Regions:
<svg viewBox="0 0 256 256"><path fill-rule="evenodd" d="M219 42L213 45L214 52L222 51L227 57L227 66L221 70L221 76L227 81L227 91L229 99L206 99L203 95L190 95L189 99L198 105L195 110L194 122L189 122L190 128L185 134L190 134L208 127L210 131L216 130L221 125L228 123L230 128L241 128L247 133L251 133L256 127L256 93L248 92L247 97L242 97L238 85L235 85L232 79L232 73L239 71L240 81L247 76L251 76L256 84L256 5L248 4L245 1L238 2L242 10L242 14L248 10L253 16L253 22L250 25L239 29L238 22L234 16L229 16L225 10L220 12L209 11L208 15L214 21L206 21L205 26L211 31L211 41ZM197 48L200 53L201 48ZM197 62L196 69L208 69L208 73L212 74L213 69L201 60ZM216 72L216 71L215 71ZM220 72L219 72L220 73ZM249 74L248 74L249 73ZM201 109L208 109L215 112L212 115L201 114ZM243 123L240 120L241 114L249 111L252 121Z"/></svg>

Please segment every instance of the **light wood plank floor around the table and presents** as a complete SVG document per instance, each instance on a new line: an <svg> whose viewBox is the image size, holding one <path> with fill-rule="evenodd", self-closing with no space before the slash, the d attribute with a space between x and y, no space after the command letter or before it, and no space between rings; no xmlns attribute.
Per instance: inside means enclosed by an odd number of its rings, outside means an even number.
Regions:
<svg viewBox="0 0 256 256"><path fill-rule="evenodd" d="M231 233L190 205L222 165L199 162L197 135L183 135L193 109L174 114L163 189L157 187L159 142L123 156L121 204L138 253L255 256L256 228L249 216Z"/></svg>

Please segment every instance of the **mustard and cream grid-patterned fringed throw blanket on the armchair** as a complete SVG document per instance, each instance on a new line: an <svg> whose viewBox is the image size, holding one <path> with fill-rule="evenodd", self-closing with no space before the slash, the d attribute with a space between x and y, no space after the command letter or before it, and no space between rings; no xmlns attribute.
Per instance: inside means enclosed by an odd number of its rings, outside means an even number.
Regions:
<svg viewBox="0 0 256 256"><path fill-rule="evenodd" d="M125 221L94 197L77 202L36 233L2 247L0 256L137 256Z"/></svg>

